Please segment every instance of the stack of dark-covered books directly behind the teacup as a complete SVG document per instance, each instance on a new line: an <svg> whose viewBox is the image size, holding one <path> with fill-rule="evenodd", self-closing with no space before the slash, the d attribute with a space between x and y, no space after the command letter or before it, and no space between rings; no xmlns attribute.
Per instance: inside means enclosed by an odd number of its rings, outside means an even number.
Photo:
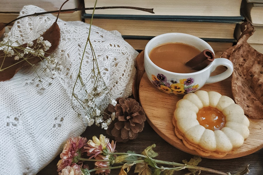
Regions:
<svg viewBox="0 0 263 175"><path fill-rule="evenodd" d="M85 7L95 0L84 0ZM133 6L153 8L155 14L130 9L95 10L92 24L105 30L117 30L136 50L144 49L154 36L179 32L197 36L222 47L223 51L236 41L234 30L244 17L240 15L241 0L100 0L96 7ZM90 23L91 10L83 18Z"/></svg>

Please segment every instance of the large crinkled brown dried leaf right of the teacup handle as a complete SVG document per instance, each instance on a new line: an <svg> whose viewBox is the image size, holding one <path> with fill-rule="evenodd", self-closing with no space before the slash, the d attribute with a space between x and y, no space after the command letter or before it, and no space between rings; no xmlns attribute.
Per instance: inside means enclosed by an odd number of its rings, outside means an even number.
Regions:
<svg viewBox="0 0 263 175"><path fill-rule="evenodd" d="M229 59L234 66L231 88L236 103L250 118L263 119L263 54L247 43L254 32L252 24L243 22L241 31L237 44L221 57Z"/></svg>

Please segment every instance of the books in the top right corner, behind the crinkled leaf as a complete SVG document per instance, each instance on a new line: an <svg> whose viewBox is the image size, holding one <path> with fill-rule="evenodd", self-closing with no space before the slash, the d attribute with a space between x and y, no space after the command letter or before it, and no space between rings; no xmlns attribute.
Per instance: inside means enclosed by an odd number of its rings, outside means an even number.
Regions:
<svg viewBox="0 0 263 175"><path fill-rule="evenodd" d="M248 38L248 43L263 53L263 0L243 0L241 13L255 29L254 34ZM236 38L240 36L240 33L240 28L237 27Z"/></svg>

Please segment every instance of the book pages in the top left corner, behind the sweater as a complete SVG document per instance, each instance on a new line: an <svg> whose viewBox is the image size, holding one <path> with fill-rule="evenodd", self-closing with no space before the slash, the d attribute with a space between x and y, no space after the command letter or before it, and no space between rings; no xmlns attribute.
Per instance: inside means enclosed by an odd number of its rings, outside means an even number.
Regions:
<svg viewBox="0 0 263 175"><path fill-rule="evenodd" d="M71 0L65 3L62 9L72 9L81 6L81 0ZM65 0L0 0L0 22L9 23L16 19L23 6L34 5L43 8L46 11L59 10ZM34 13L34 12L32 12ZM56 16L56 13L53 14ZM60 13L59 18L64 21L82 20L81 11Z"/></svg>

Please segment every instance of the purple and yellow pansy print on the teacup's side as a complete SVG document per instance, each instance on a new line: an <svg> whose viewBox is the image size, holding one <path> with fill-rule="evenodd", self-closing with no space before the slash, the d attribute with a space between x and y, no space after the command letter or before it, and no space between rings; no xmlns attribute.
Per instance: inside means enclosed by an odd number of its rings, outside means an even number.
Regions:
<svg viewBox="0 0 263 175"><path fill-rule="evenodd" d="M193 78L171 79L167 81L164 74L152 75L153 85L168 94L187 94L198 89L199 85L194 83Z"/></svg>

